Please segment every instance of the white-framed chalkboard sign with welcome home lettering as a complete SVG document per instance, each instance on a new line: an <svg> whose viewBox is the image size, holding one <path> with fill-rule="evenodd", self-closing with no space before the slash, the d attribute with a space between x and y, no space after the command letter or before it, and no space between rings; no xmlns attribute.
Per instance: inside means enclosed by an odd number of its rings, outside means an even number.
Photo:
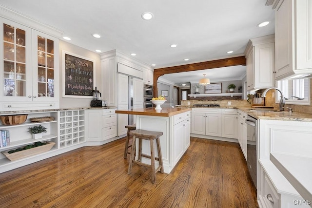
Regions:
<svg viewBox="0 0 312 208"><path fill-rule="evenodd" d="M92 96L95 61L63 51L63 97Z"/></svg>

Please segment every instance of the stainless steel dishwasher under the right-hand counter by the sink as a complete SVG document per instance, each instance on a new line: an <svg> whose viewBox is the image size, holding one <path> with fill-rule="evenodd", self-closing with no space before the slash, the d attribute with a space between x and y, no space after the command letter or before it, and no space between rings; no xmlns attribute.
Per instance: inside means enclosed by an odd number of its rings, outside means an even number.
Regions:
<svg viewBox="0 0 312 208"><path fill-rule="evenodd" d="M247 115L247 166L257 188L257 119Z"/></svg>

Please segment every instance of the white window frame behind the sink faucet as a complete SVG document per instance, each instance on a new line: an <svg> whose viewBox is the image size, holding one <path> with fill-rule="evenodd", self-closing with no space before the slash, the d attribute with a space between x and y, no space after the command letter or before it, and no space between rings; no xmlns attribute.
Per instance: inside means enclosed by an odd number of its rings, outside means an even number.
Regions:
<svg viewBox="0 0 312 208"><path fill-rule="evenodd" d="M307 78L307 77L304 77L304 78ZM288 81L289 80L285 80L285 81L286 82L282 82L280 84L280 86L278 86L278 81L275 82L275 86L277 88L279 88L282 92L288 91ZM294 79L292 81L300 84L300 83L303 83L303 78L302 79ZM291 99L289 99L289 100L285 101L285 104L310 105L311 104L311 92L310 92L310 89L311 89L311 78L308 78L308 86L309 87L308 87L308 97L307 97L307 99L304 99L304 100L296 100L296 99L295 100L291 100ZM292 95L298 95L299 94L300 96L298 96L298 97L303 97L304 96L304 89L297 88L296 85L293 86L292 91L296 92L295 94L293 93ZM277 92L276 93L277 96L275 96L275 103L279 103L279 101L280 101L280 93L278 91L276 91L276 92ZM288 94L284 95L284 97L289 98Z"/></svg>

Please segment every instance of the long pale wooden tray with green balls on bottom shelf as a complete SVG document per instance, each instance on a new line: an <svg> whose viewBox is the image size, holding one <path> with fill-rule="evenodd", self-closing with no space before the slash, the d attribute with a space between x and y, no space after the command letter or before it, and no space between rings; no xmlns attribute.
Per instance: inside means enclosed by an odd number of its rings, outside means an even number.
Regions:
<svg viewBox="0 0 312 208"><path fill-rule="evenodd" d="M23 151L16 151L11 154L8 153L8 151L2 151L1 153L4 154L9 160L14 161L14 160L19 160L24 157L29 157L35 154L39 154L45 151L51 150L51 148L55 145L55 142L47 141L48 144L34 147L31 149L23 150Z"/></svg>

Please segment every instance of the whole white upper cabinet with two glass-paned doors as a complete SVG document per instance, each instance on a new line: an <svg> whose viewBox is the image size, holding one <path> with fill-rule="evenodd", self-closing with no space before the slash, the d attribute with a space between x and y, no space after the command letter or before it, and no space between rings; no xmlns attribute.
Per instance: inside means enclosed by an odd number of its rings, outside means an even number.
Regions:
<svg viewBox="0 0 312 208"><path fill-rule="evenodd" d="M59 40L7 19L0 18L0 23L2 104L11 107L10 101L59 102L59 71L55 68L59 66L55 58Z"/></svg>

